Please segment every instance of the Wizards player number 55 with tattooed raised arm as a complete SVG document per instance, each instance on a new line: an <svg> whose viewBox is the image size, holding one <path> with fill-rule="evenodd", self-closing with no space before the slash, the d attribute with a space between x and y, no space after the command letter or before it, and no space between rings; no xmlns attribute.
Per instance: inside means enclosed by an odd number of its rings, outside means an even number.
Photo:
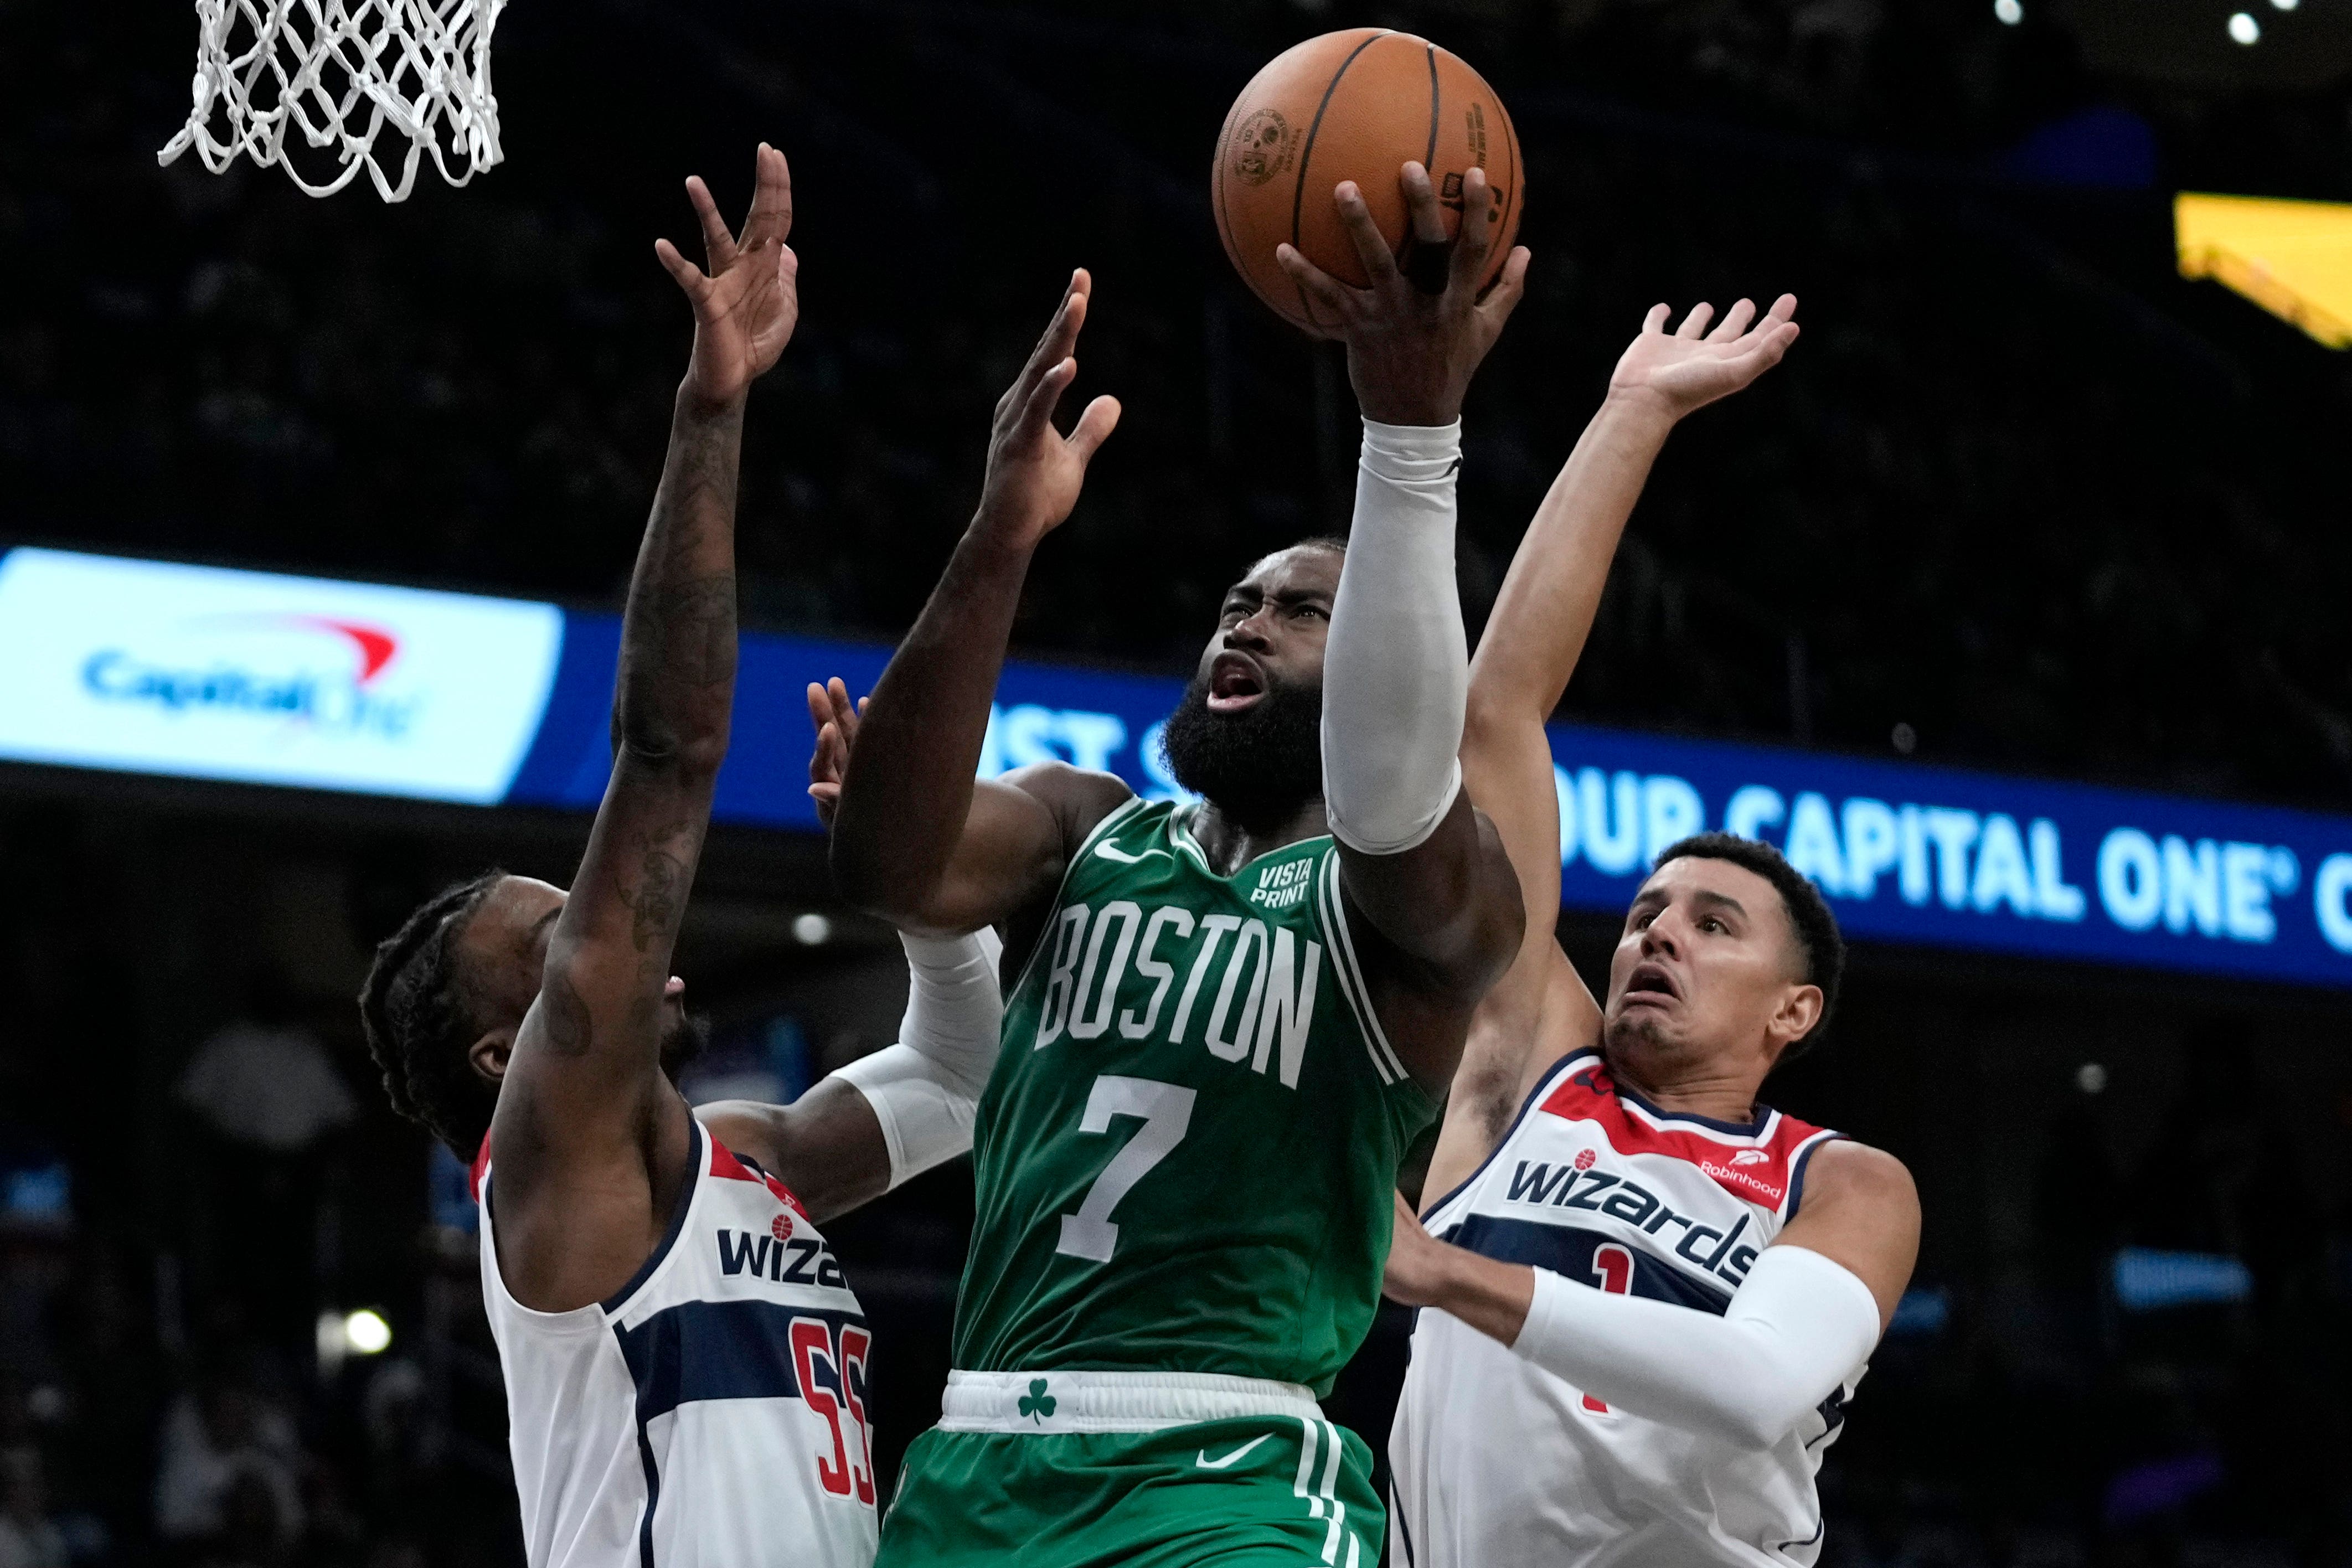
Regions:
<svg viewBox="0 0 2352 1568"><path fill-rule="evenodd" d="M993 938L908 943L903 1044L795 1105L715 1105L673 1072L696 1020L670 950L727 757L743 404L793 336L793 188L760 148L710 270L668 240L694 357L621 623L614 766L572 891L487 872L379 950L360 1013L393 1107L475 1164L482 1298L506 1373L532 1568L795 1563L875 1549L870 1335L811 1220L969 1145L997 1048ZM854 715L821 722L830 809Z"/></svg>

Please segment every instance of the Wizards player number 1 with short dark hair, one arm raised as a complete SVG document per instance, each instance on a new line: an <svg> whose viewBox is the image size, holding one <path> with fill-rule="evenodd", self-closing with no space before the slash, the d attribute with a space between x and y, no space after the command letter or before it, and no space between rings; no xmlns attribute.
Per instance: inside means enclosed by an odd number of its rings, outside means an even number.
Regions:
<svg viewBox="0 0 2352 1568"><path fill-rule="evenodd" d="M1463 778L1531 912L1559 907L1543 724L1668 433L1797 339L1797 301L1658 306L1536 512L1470 677ZM1755 324L1750 324L1755 322ZM1392 1561L1811 1563L1820 1453L1903 1295L1889 1154L1759 1105L1820 1037L1844 945L1780 853L1668 846L1595 1004L1548 919L1479 1004L1388 1293L1421 1312L1390 1439ZM1799 1208L1802 1204L1802 1208ZM1432 1239L1442 1237L1442 1239Z"/></svg>

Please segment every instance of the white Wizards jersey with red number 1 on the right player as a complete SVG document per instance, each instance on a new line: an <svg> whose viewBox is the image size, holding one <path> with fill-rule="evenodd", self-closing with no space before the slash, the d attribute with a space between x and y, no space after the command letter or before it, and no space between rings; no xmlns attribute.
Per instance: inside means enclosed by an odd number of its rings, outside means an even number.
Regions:
<svg viewBox="0 0 2352 1568"><path fill-rule="evenodd" d="M1839 1133L1663 1112L1599 1051L1562 1058L1430 1234L1595 1291L1722 1314ZM1773 1448L1611 1410L1444 1312L1421 1312L1388 1441L1392 1568L1811 1563L1813 1472L1863 1368Z"/></svg>

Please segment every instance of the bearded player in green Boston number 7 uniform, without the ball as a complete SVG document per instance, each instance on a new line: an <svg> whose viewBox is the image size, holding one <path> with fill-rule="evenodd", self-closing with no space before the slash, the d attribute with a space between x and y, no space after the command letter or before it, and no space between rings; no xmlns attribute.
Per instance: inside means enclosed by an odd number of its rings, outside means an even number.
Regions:
<svg viewBox="0 0 2352 1568"><path fill-rule="evenodd" d="M833 832L842 893L901 929L1011 929L1018 983L974 1135L978 1218L941 1422L880 1563L1362 1568L1369 1450L1317 1394L1378 1298L1397 1161L1519 945L1503 844L1461 788L1454 590L1463 390L1519 299L1479 299L1468 176L1435 292L1352 183L1369 289L1284 247L1341 322L1364 414L1355 531L1225 592L1167 726L1200 804L1044 764L974 783L1030 555L1117 404L1054 407L1077 273L997 404L978 515L873 693ZM1406 165L1416 230L1442 237Z"/></svg>

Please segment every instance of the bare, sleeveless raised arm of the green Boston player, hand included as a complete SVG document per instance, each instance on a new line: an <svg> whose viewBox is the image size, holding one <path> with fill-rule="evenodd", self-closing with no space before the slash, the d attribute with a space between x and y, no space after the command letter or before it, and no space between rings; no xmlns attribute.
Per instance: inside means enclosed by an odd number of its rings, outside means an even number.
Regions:
<svg viewBox="0 0 2352 1568"><path fill-rule="evenodd" d="M1065 844L1127 795L1077 769L974 783L1030 555L1077 505L1087 461L1120 423L1117 400L1096 397L1070 435L1054 428L1077 378L1089 289L1073 273L997 400L981 510L882 672L842 780L833 879L851 905L908 931L976 931L1016 912L1056 884Z"/></svg>

